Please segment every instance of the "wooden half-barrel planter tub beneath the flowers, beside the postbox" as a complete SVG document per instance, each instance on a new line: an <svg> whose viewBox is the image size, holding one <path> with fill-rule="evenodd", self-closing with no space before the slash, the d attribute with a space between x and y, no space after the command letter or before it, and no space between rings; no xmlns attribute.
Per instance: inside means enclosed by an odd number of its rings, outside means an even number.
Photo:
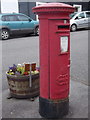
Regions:
<svg viewBox="0 0 90 120"><path fill-rule="evenodd" d="M10 94L14 98L31 98L39 96L39 73L32 75L31 87L29 75L9 75L7 74Z"/></svg>

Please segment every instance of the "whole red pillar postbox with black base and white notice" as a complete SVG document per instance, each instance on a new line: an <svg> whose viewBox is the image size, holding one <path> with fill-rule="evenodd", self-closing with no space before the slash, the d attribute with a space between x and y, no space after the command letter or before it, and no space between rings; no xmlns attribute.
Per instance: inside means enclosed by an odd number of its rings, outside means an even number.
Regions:
<svg viewBox="0 0 90 120"><path fill-rule="evenodd" d="M47 3L33 8L40 20L39 112L46 118L68 113L70 83L70 23L74 8Z"/></svg>

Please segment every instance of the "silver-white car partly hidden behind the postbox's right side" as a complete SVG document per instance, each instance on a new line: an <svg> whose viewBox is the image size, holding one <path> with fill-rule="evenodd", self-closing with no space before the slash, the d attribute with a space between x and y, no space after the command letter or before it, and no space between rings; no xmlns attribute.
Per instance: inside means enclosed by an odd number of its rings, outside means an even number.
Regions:
<svg viewBox="0 0 90 120"><path fill-rule="evenodd" d="M71 31L90 27L90 11L74 12L70 15Z"/></svg>

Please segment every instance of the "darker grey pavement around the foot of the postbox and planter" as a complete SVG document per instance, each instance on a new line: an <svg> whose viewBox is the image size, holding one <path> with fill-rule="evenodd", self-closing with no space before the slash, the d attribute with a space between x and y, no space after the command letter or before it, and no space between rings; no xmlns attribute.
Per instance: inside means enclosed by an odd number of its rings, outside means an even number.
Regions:
<svg viewBox="0 0 90 120"><path fill-rule="evenodd" d="M70 85L69 114L64 118L88 118L88 86L72 81ZM9 90L2 95L3 118L42 118L39 115L39 97L30 99L7 99Z"/></svg>

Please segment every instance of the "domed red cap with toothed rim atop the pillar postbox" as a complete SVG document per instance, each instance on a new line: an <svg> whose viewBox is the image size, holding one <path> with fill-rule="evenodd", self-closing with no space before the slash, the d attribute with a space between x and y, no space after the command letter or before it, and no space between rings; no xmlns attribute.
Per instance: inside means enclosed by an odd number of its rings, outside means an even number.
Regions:
<svg viewBox="0 0 90 120"><path fill-rule="evenodd" d="M33 8L33 12L35 13L49 13L49 12L74 12L75 8L71 5L64 3L46 3L44 5L39 5Z"/></svg>

